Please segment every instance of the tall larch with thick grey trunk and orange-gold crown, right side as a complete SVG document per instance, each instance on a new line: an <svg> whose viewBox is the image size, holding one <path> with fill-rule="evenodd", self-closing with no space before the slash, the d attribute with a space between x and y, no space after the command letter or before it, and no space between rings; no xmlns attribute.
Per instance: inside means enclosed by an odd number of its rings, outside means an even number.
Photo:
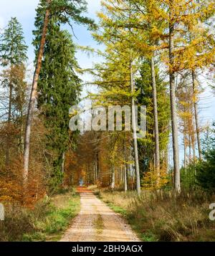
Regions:
<svg viewBox="0 0 215 256"><path fill-rule="evenodd" d="M188 37L196 23L208 16L214 10L214 1L165 1L164 11L168 14L168 72L171 94L171 121L173 136L173 163L174 163L174 186L177 193L181 191L180 163L178 148L178 123L176 111L176 73L181 70L191 69L202 54L194 49L201 47L202 38L192 39ZM196 9L196 4L201 8ZM187 29L188 28L188 29ZM187 39L188 38L188 39ZM212 51L213 52L213 51ZM211 53L204 54L209 61ZM206 63L205 63L206 64Z"/></svg>

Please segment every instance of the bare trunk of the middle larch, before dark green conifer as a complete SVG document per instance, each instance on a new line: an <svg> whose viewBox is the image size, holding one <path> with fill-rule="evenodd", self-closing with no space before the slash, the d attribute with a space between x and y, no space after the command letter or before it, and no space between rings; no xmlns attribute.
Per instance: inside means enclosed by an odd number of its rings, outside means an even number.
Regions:
<svg viewBox="0 0 215 256"><path fill-rule="evenodd" d="M160 177L160 146L159 146L159 129L158 129L158 101L156 89L156 72L154 56L151 58L151 78L153 87L153 115L154 115L154 131L155 131L155 156L156 156L156 174L158 180Z"/></svg>

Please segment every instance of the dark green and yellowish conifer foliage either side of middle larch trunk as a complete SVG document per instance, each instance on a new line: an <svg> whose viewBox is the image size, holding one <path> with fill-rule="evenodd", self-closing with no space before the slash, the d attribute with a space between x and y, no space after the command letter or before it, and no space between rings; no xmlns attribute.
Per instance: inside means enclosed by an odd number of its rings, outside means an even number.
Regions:
<svg viewBox="0 0 215 256"><path fill-rule="evenodd" d="M143 60L140 67L140 78L135 82L135 85L140 89L138 95L138 104L146 106L147 115L147 131L145 138L138 140L139 159L141 169L148 171L150 164L153 163L154 158L154 136L153 136L153 93L151 80L151 66L150 62ZM166 151L168 149L168 136L170 133L170 103L168 100L167 84L164 78L159 74L158 67L156 67L156 86L158 94L158 128L159 128L159 143L161 151L161 163L165 161Z"/></svg>

